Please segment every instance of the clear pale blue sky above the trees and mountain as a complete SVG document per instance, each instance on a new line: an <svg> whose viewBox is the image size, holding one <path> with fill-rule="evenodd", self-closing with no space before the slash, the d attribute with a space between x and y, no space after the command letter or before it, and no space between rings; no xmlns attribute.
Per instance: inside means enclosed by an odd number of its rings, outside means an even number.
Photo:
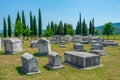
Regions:
<svg viewBox="0 0 120 80"><path fill-rule="evenodd" d="M120 0L0 0L0 30L3 30L3 18L11 16L15 23L17 12L25 12L26 23L29 25L29 13L38 19L38 9L41 9L42 26L46 28L51 21L69 23L76 28L79 13L86 23L94 17L95 26L107 22L120 22Z"/></svg>

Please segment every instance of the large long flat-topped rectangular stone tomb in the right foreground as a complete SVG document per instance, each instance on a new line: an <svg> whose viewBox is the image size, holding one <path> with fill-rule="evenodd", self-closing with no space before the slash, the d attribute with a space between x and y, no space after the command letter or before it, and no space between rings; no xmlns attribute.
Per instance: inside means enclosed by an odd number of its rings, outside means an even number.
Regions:
<svg viewBox="0 0 120 80"><path fill-rule="evenodd" d="M65 52L65 64L80 69L91 69L94 67L101 67L100 56L86 52Z"/></svg>

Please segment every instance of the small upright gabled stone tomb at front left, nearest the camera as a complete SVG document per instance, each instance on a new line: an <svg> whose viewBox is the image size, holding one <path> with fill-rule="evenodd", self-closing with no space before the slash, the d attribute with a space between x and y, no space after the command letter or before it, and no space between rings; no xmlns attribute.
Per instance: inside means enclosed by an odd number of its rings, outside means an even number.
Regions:
<svg viewBox="0 0 120 80"><path fill-rule="evenodd" d="M22 70L25 74L40 73L38 68L38 59L29 53L25 53L21 56Z"/></svg>

